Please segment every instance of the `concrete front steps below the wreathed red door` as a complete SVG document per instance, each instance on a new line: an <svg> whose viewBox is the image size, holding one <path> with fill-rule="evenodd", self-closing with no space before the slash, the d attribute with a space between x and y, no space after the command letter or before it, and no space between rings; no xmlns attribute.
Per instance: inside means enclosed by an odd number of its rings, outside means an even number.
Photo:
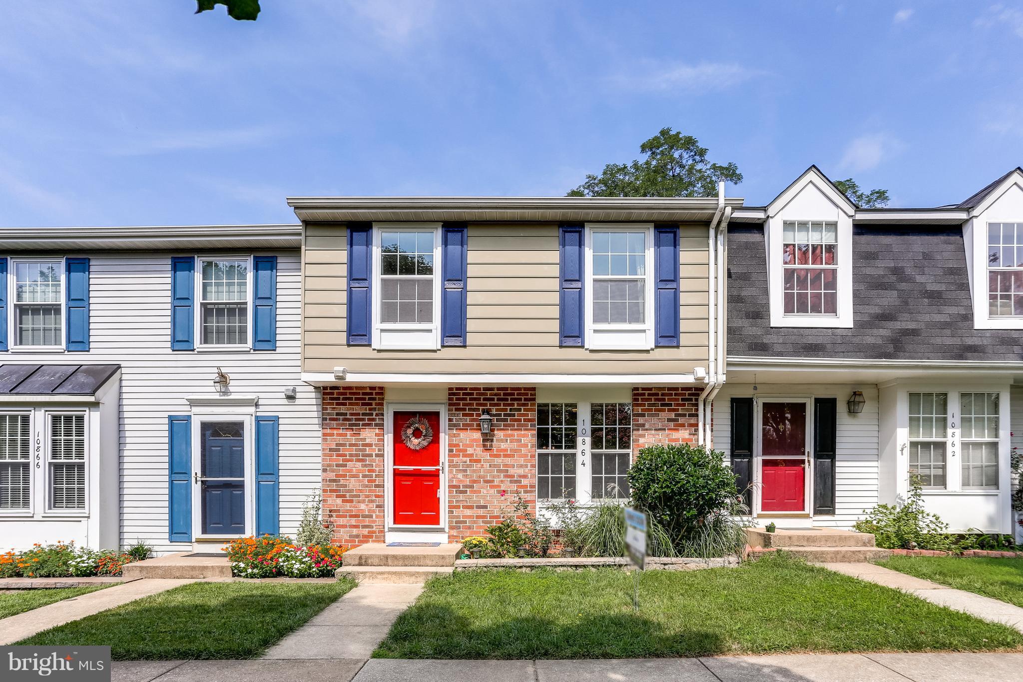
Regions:
<svg viewBox="0 0 1023 682"><path fill-rule="evenodd" d="M460 544L388 547L370 543L345 552L337 575L360 583L425 583L434 576L450 575L459 554Z"/></svg>

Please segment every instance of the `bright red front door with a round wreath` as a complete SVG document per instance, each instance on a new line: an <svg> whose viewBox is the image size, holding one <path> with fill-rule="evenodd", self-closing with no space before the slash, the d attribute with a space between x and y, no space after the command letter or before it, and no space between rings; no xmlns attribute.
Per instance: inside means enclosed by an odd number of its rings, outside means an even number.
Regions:
<svg viewBox="0 0 1023 682"><path fill-rule="evenodd" d="M441 526L440 412L394 413L394 525Z"/></svg>

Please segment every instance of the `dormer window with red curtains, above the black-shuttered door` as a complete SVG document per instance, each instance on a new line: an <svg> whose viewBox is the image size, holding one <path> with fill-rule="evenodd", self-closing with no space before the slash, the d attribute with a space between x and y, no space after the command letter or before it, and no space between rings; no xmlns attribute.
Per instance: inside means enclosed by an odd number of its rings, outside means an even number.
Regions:
<svg viewBox="0 0 1023 682"><path fill-rule="evenodd" d="M782 269L786 315L838 314L838 223L787 220Z"/></svg>

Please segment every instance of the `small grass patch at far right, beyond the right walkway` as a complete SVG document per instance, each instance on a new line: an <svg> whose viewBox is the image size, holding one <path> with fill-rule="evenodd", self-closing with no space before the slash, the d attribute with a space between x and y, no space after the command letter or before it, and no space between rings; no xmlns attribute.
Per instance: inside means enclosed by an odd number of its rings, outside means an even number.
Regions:
<svg viewBox="0 0 1023 682"><path fill-rule="evenodd" d="M1023 559L892 556L878 565L1023 606Z"/></svg>

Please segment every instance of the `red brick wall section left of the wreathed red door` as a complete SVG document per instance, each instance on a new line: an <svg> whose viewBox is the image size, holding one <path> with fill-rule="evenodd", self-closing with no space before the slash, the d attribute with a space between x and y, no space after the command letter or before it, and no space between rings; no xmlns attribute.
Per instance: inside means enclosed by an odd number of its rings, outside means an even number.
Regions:
<svg viewBox="0 0 1023 682"><path fill-rule="evenodd" d="M384 389L323 389L323 520L345 546L384 542Z"/></svg>

